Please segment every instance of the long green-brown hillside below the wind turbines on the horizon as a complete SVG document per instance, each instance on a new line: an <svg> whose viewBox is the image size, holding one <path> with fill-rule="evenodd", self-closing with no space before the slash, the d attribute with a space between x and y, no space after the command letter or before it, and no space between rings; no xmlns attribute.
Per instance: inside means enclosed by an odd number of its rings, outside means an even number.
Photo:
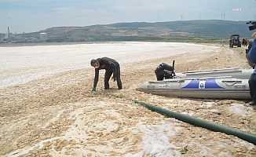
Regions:
<svg viewBox="0 0 256 157"><path fill-rule="evenodd" d="M25 34L35 37L47 33L46 42L112 42L112 41L164 41L203 42L205 38L229 39L232 34L251 37L247 21L180 20L170 22L134 22L93 25L86 27L51 27Z"/></svg>

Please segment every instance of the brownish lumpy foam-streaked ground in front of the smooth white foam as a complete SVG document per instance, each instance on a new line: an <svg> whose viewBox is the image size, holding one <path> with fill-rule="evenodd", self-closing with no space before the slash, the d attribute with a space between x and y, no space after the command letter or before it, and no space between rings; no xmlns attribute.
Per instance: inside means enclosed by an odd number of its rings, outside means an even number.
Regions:
<svg viewBox="0 0 256 157"><path fill-rule="evenodd" d="M177 47L185 51L192 49ZM104 71L101 71L97 91L92 93L93 68L63 71L0 89L3 104L0 144L5 145L0 155L256 155L255 145L238 137L166 118L121 98L132 98L256 134L256 108L248 105L247 100L163 97L136 90L141 83L155 80L154 70L162 62L172 64L175 60L175 72L248 68L245 54L241 53L243 49L219 46L203 54L177 53L123 62L123 90L117 90L116 82L110 82L111 89L104 90ZM152 50L148 55L163 53ZM139 55L129 53L124 57ZM109 96L111 94L118 97ZM188 151L182 153L185 148Z"/></svg>

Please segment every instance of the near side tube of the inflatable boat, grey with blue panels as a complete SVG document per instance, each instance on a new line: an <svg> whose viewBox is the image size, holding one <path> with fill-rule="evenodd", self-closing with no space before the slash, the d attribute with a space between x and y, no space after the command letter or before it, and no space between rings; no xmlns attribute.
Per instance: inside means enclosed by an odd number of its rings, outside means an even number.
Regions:
<svg viewBox="0 0 256 157"><path fill-rule="evenodd" d="M137 90L167 97L250 100L248 79L229 76L144 82Z"/></svg>

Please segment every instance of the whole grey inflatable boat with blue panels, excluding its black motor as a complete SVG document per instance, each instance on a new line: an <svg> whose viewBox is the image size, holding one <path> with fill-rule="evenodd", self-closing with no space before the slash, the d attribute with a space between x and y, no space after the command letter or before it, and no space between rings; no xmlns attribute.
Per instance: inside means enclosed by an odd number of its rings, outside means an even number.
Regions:
<svg viewBox="0 0 256 157"><path fill-rule="evenodd" d="M250 100L248 80L253 71L223 68L175 73L173 61L173 71L166 71L170 79L144 82L137 90L167 97Z"/></svg>

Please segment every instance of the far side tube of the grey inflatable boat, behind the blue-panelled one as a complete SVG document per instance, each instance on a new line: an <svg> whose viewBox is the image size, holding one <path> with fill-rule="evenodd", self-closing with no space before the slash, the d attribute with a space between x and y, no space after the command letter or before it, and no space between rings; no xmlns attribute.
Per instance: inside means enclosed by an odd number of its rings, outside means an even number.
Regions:
<svg viewBox="0 0 256 157"><path fill-rule="evenodd" d="M219 77L229 76L236 79L250 79L254 69L252 68L223 68L204 71L188 71L181 73L174 73L174 79L186 79L186 78L200 78L200 77ZM167 73L173 73L173 71L166 71Z"/></svg>

